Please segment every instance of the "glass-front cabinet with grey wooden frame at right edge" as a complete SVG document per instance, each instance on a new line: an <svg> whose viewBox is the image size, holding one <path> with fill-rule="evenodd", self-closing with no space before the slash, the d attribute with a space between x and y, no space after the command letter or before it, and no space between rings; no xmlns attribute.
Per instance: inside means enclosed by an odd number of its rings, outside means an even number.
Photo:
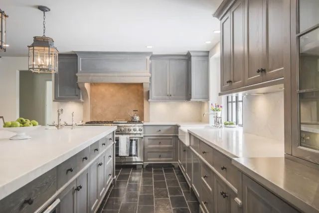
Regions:
<svg viewBox="0 0 319 213"><path fill-rule="evenodd" d="M295 6L291 107L298 116L292 115L292 155L319 164L319 0L299 0Z"/></svg>

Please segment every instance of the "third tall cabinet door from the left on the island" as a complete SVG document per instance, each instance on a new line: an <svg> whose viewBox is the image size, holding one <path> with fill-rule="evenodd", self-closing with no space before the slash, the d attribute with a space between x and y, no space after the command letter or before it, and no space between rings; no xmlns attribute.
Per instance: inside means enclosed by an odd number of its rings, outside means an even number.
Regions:
<svg viewBox="0 0 319 213"><path fill-rule="evenodd" d="M98 159L93 162L89 168L89 198L90 198L90 213L95 212L98 201Z"/></svg>

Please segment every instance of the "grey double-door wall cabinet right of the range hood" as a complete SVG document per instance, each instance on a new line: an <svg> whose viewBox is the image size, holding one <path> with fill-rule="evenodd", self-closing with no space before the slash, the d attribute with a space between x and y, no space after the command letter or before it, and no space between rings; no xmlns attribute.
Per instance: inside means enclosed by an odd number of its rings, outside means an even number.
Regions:
<svg viewBox="0 0 319 213"><path fill-rule="evenodd" d="M151 66L151 100L186 100L188 97L187 58L154 55Z"/></svg>

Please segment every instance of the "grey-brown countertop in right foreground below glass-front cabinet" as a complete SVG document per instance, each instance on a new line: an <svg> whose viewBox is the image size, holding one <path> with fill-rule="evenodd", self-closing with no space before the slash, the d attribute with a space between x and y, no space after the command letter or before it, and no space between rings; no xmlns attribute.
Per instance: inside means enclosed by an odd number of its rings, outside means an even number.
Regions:
<svg viewBox="0 0 319 213"><path fill-rule="evenodd" d="M319 212L319 170L287 158L234 158L232 164L302 212Z"/></svg>

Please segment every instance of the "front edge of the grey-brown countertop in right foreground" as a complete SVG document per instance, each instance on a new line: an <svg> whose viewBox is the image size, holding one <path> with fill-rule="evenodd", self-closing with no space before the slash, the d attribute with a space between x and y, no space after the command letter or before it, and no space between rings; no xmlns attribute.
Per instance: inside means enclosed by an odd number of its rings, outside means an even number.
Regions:
<svg viewBox="0 0 319 213"><path fill-rule="evenodd" d="M262 177L258 173L254 172L253 170L249 169L248 167L241 164L236 159L232 159L232 164L237 167L241 172L252 178L254 181L258 182L260 185L262 185L264 188L271 191L273 194L275 194L277 197L285 200L285 202L289 203L291 206L297 208L300 211L303 212L311 212L311 213L318 213L319 210L314 208L313 206L309 205L305 201L297 198L296 196L290 194L283 188L277 186L273 182L267 180L266 178Z"/></svg>

